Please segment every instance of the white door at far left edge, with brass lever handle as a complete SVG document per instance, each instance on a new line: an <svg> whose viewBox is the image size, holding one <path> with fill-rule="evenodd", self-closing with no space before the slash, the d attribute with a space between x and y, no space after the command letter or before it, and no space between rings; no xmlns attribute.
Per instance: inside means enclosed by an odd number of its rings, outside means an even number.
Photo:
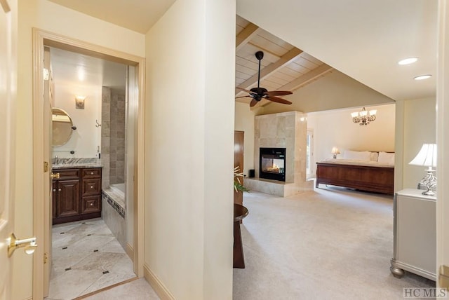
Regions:
<svg viewBox="0 0 449 300"><path fill-rule="evenodd" d="M0 299L11 299L8 237L13 233L16 1L0 0Z"/></svg>

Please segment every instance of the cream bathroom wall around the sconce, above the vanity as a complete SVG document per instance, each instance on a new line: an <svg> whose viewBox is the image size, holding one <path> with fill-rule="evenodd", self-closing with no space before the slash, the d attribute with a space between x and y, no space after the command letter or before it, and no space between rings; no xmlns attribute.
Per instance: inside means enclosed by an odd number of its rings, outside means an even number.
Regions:
<svg viewBox="0 0 449 300"><path fill-rule="evenodd" d="M101 122L102 87L90 84L55 83L55 107L64 109L72 118L76 130L72 131L67 144L53 147L53 157L93 158L101 146L101 127L95 127L95 120ZM75 95L83 95L84 109L75 108ZM70 154L70 151L75 151Z"/></svg>

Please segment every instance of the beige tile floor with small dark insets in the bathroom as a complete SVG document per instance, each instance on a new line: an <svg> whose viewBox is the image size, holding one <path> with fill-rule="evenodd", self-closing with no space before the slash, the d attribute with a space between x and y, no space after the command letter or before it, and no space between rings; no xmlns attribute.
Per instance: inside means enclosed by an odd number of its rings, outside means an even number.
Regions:
<svg viewBox="0 0 449 300"><path fill-rule="evenodd" d="M74 299L134 278L133 263L102 219L53 226L46 300Z"/></svg>

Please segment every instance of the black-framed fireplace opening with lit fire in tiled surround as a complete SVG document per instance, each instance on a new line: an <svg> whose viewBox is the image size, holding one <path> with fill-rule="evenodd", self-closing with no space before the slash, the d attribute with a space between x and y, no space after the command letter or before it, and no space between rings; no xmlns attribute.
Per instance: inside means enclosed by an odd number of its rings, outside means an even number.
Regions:
<svg viewBox="0 0 449 300"><path fill-rule="evenodd" d="M286 181L286 149L260 148L259 178Z"/></svg>

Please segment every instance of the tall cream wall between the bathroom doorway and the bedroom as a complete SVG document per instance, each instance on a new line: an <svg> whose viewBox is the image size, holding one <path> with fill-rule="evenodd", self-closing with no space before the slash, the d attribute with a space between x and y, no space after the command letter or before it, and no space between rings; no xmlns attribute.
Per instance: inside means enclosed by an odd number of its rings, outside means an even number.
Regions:
<svg viewBox="0 0 449 300"><path fill-rule="evenodd" d="M145 269L175 299L232 299L234 40L225 0L178 0L146 35Z"/></svg>

